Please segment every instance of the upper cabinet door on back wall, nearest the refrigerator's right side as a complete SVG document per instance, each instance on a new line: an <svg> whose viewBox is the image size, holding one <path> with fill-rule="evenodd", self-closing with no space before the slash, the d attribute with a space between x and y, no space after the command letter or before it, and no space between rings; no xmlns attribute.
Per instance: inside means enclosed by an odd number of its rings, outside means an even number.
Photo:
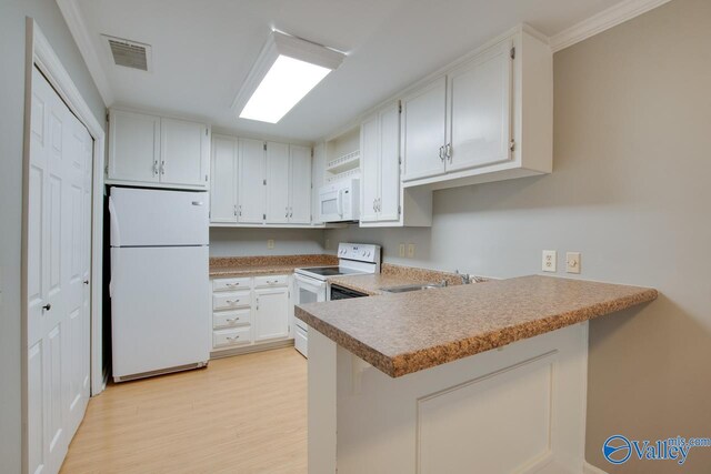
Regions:
<svg viewBox="0 0 711 474"><path fill-rule="evenodd" d="M237 139L212 135L210 222L237 222L238 155Z"/></svg>

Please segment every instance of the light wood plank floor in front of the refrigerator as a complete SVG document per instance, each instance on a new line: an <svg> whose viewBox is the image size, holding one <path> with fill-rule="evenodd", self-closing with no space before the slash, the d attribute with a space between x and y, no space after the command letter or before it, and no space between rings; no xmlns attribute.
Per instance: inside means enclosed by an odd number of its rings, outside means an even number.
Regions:
<svg viewBox="0 0 711 474"><path fill-rule="evenodd" d="M292 347L110 385L62 473L307 472L307 362Z"/></svg>

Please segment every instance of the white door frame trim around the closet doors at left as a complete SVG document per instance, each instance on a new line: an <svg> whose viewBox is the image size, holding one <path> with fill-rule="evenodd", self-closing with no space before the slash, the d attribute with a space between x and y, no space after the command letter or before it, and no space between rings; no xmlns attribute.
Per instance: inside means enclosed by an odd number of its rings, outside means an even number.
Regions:
<svg viewBox="0 0 711 474"><path fill-rule="evenodd" d="M91 209L91 394L97 395L106 387L101 346L101 300L102 300L102 244L103 244L103 127L91 112L71 77L61 64L49 41L33 19L27 18L26 29L26 80L24 80L24 151L22 182L22 465L28 468L28 202L29 165L32 107L32 71L37 67L47 78L71 112L84 124L93 139L92 209Z"/></svg>

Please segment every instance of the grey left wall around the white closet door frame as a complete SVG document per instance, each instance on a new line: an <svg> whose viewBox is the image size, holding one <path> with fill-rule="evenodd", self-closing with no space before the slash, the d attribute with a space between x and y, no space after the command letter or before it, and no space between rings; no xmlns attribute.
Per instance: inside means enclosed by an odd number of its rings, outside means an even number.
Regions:
<svg viewBox="0 0 711 474"><path fill-rule="evenodd" d="M103 103L53 0L0 3L0 471L20 472L20 253L24 21L37 20L74 83L103 123Z"/></svg>

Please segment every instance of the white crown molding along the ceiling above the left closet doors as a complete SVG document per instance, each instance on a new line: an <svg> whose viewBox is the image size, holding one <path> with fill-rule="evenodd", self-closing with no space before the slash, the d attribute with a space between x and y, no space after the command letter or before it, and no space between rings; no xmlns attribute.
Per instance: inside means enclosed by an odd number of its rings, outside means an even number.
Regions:
<svg viewBox="0 0 711 474"><path fill-rule="evenodd" d="M57 6L64 17L67 27L69 27L69 31L71 31L71 36L74 38L74 42L79 48L79 52L87 63L89 74L91 74L93 82L97 84L99 94L101 99L103 99L103 104L107 107L111 105L113 103L113 91L111 90L109 78L101 65L101 60L97 54L94 42L91 40L79 6L76 0L57 0Z"/></svg>

